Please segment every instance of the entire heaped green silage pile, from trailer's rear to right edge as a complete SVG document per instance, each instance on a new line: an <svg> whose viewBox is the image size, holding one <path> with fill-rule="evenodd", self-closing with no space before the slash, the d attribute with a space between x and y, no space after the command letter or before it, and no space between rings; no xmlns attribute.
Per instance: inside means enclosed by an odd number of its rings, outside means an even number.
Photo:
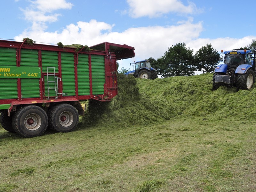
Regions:
<svg viewBox="0 0 256 192"><path fill-rule="evenodd" d="M111 102L90 101L85 123L111 126L150 125L173 117L200 116L253 120L255 85L251 90L221 86L212 90L212 74L163 79L118 75L118 95Z"/></svg>

